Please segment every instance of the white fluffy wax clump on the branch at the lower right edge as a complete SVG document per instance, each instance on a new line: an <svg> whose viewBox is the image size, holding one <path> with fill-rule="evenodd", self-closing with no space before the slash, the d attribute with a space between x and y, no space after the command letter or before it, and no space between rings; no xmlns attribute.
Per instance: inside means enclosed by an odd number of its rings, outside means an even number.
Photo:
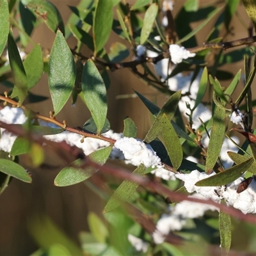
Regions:
<svg viewBox="0 0 256 256"><path fill-rule="evenodd" d="M220 202L223 198L228 205L232 205L234 208L239 209L244 214L256 213L256 181L252 180L246 190L241 193L237 193L237 187L244 180L243 177L239 177L227 186L220 187L199 187L195 186L198 180L206 179L215 175L207 175L207 173L200 173L198 170L194 170L191 173L177 173L176 177L180 180L184 180L184 186L189 193L196 192L206 199L212 199L216 202ZM217 192L217 193L216 193Z"/></svg>

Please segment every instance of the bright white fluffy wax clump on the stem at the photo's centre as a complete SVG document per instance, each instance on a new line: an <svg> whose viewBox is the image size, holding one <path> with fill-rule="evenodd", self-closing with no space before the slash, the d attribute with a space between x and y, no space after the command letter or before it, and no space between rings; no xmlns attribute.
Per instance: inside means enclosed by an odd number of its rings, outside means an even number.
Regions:
<svg viewBox="0 0 256 256"><path fill-rule="evenodd" d="M153 148L139 139L124 137L116 140L115 147L124 152L125 159L130 160L135 166L143 163L148 168L161 164L161 159L156 155Z"/></svg>

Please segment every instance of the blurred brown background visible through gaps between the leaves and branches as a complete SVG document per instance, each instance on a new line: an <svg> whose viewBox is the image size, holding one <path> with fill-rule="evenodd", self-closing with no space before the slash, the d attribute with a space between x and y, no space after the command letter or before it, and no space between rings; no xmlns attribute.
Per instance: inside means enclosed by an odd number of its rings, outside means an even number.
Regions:
<svg viewBox="0 0 256 256"><path fill-rule="evenodd" d="M51 1L56 5L66 24L70 15L70 6L76 6L79 1ZM134 3L135 1L128 1ZM179 12L180 7L185 1L175 1L173 17ZM200 4L217 4L225 1L200 1ZM115 12L114 12L115 13ZM241 22L243 20L243 22ZM209 33L212 23L208 24L196 36L198 44L203 44L204 36ZM239 4L237 15L232 20L232 35L229 35L227 40L235 40L248 36L246 28L250 21L242 4ZM244 24L244 26L242 25ZM198 26L198 22L192 24L194 28ZM208 29L208 30L207 30ZM51 51L55 34L52 33L45 24L41 24L33 33L33 40L40 43L42 49ZM106 50L109 50L111 44L120 41L118 35L111 33ZM125 44L125 42L122 42ZM68 39L68 44L71 48L76 45L74 38ZM127 45L128 46L128 45ZM26 49L26 52L31 49ZM227 50L228 51L228 50ZM90 55L88 49L83 49L84 55ZM132 54L126 61L132 60ZM225 70L236 72L243 67L243 63L234 63L225 65ZM156 90L148 87L134 76L131 70L124 68L109 71L111 86L108 90L108 119L111 124L111 129L115 132L122 132L123 120L129 116L134 120L138 127L138 138L143 139L146 132L152 124L152 116L145 108L143 103L138 98L116 99L118 95L130 95L136 90L152 100L161 108L164 102L168 99L165 95L156 92ZM221 83L225 86L230 81ZM241 84L237 90L241 90ZM40 102L40 104L28 104L28 108L33 111L38 111L40 114L49 116L49 111L52 111L52 103L49 94L47 75L43 75L40 82L33 88L32 92L49 97L48 100ZM207 99L205 99L207 100ZM76 106L71 107L71 100L66 104L65 108L57 115L57 119L66 120L67 125L71 127L81 127L84 122L90 118L88 109L84 106L80 99L77 100ZM28 166L25 157L20 157L20 163L23 166ZM92 189L88 188L83 182L66 188L56 188L53 185L54 177L60 172L58 168L58 159L54 159L50 154L47 155L47 163L42 168L36 170L28 166L29 172L32 173L33 183L26 184L17 179L13 179L8 189L0 196L0 255L29 255L34 252L38 246L29 235L29 223L39 215L49 216L58 227L71 237L75 243L78 243L77 234L82 230L88 230L86 221L89 211L102 213L105 202L93 193Z"/></svg>

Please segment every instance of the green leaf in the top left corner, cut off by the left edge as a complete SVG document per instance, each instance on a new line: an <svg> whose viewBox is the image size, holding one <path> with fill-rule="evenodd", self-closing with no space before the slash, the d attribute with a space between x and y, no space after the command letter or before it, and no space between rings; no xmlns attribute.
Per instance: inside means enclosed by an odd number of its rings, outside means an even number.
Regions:
<svg viewBox="0 0 256 256"><path fill-rule="evenodd" d="M10 22L9 22L9 10L8 1L2 0L0 2L0 56L4 51L5 44L7 42Z"/></svg>

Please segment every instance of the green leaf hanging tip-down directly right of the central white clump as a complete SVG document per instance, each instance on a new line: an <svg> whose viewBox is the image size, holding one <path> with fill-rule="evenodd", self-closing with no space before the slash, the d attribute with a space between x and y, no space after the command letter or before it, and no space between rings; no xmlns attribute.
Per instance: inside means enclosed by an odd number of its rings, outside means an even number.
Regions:
<svg viewBox="0 0 256 256"><path fill-rule="evenodd" d="M163 114L162 122L162 136L164 146L168 152L168 156L171 159L173 168L178 170L183 159L182 147L180 145L179 137L173 129L168 117Z"/></svg>

